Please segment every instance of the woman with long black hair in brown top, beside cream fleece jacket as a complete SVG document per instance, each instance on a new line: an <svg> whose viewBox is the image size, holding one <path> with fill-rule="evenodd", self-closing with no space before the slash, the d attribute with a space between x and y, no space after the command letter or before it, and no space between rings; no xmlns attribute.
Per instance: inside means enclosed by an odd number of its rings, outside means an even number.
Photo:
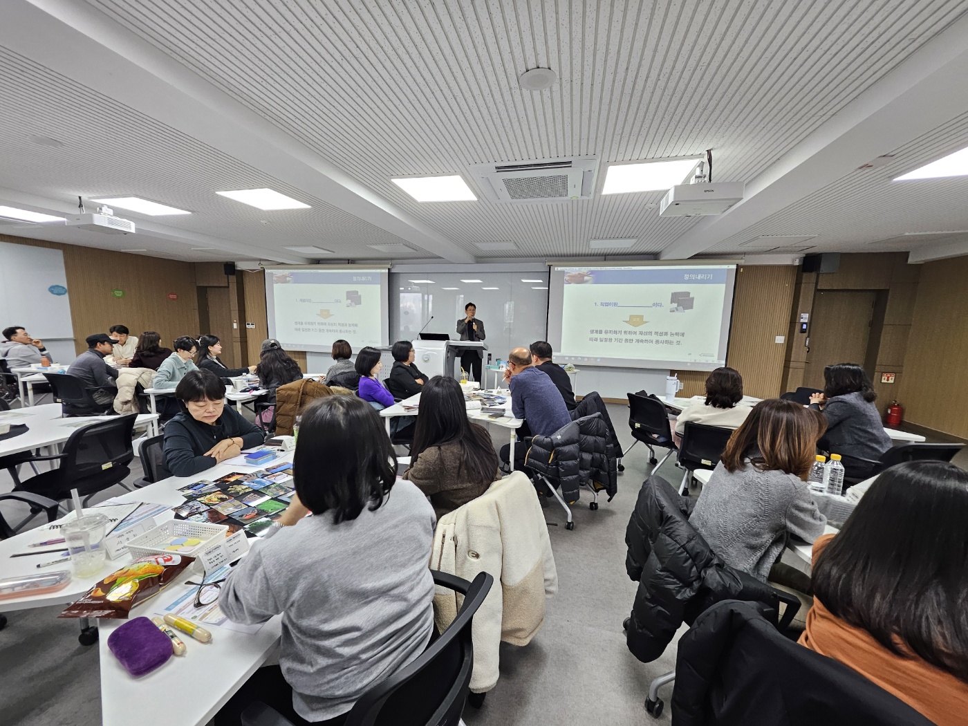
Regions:
<svg viewBox="0 0 968 726"><path fill-rule="evenodd" d="M430 497L438 517L480 497L500 478L491 435L468 419L461 384L435 376L420 393L420 409L404 473Z"/></svg>

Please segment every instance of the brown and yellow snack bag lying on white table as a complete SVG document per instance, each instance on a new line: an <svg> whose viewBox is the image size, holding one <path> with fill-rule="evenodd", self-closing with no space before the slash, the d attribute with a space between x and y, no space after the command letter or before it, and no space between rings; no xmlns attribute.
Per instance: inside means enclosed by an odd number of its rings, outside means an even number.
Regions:
<svg viewBox="0 0 968 726"><path fill-rule="evenodd" d="M126 620L137 604L158 594L195 558L150 555L109 574L58 618L114 618Z"/></svg>

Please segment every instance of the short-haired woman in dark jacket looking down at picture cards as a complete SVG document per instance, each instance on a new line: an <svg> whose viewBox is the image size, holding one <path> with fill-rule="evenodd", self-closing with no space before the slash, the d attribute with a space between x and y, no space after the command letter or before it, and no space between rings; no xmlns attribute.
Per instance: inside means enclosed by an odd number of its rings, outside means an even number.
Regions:
<svg viewBox="0 0 968 726"><path fill-rule="evenodd" d="M172 474L211 469L265 440L225 398L226 384L211 371L189 371L178 381L175 399L182 410L165 427L165 466Z"/></svg>

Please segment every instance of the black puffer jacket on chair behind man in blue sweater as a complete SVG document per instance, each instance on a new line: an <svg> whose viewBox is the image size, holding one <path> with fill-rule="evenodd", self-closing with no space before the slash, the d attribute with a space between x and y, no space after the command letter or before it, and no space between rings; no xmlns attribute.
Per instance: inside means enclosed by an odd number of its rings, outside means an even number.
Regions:
<svg viewBox="0 0 968 726"><path fill-rule="evenodd" d="M534 437L525 464L557 482L561 498L574 504L582 484L608 477L608 427L597 413L565 424L550 437Z"/></svg>

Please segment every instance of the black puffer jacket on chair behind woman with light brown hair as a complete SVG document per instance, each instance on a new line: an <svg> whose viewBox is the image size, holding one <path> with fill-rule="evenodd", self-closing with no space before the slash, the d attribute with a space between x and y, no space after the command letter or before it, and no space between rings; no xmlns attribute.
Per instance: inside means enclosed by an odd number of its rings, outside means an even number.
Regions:
<svg viewBox="0 0 968 726"><path fill-rule="evenodd" d="M650 476L625 529L625 570L639 583L625 640L644 663L662 654L683 622L691 625L720 600L763 603L776 623L776 590L713 553L688 515L688 499Z"/></svg>

